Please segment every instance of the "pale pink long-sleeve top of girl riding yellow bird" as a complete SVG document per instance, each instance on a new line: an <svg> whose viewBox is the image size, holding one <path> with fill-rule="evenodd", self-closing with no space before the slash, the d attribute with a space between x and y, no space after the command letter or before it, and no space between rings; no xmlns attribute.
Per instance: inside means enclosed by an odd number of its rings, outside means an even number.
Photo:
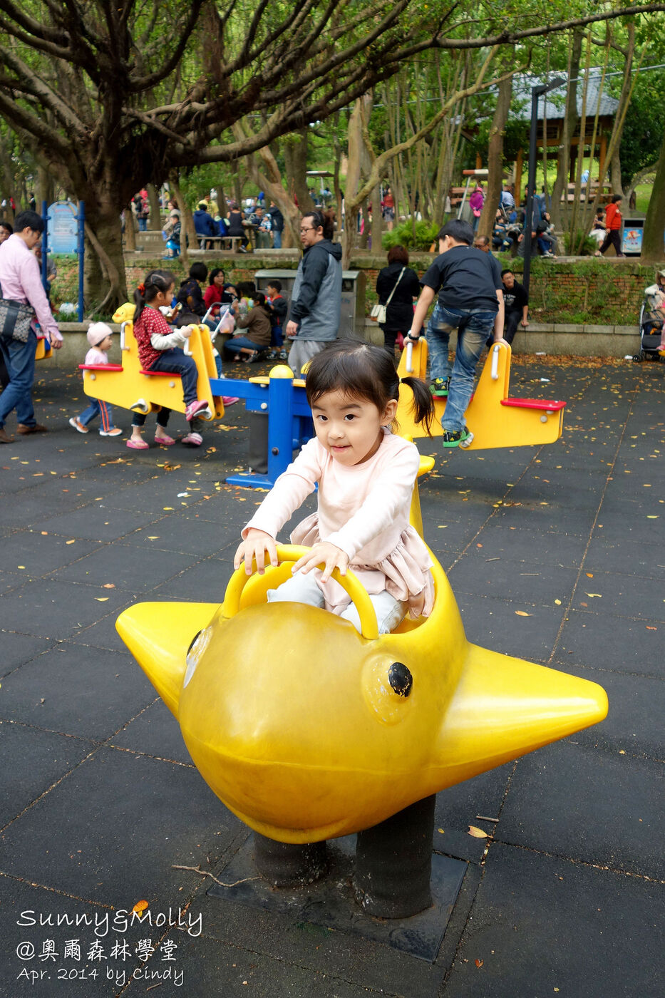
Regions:
<svg viewBox="0 0 665 998"><path fill-rule="evenodd" d="M350 467L335 461L314 437L280 475L243 538L252 527L277 538L318 484L319 510L299 524L292 542L328 541L348 555L349 568L368 593L387 590L404 603L424 601L422 616L427 617L433 606L432 563L408 523L419 460L414 444L388 430L372 457ZM321 571L316 572L327 609L341 613L349 602L345 591L333 579L322 583Z"/></svg>

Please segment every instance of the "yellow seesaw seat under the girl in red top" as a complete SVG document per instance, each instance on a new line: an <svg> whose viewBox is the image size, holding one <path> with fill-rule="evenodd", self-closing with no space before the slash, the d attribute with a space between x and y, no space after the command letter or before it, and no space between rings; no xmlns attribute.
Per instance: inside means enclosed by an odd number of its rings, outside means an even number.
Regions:
<svg viewBox="0 0 665 998"><path fill-rule="evenodd" d="M147 371L142 367L130 314L134 314L133 304L123 305L113 316L114 321L121 323L122 363L79 364L86 395L136 412L153 412L162 406L175 412L185 412L180 375L168 371ZM187 352L194 358L199 372L197 398L206 398L210 403L209 409L200 413L200 418L221 419L224 404L221 396L213 395L210 384L211 378L217 377L217 369L207 326L193 328Z"/></svg>

